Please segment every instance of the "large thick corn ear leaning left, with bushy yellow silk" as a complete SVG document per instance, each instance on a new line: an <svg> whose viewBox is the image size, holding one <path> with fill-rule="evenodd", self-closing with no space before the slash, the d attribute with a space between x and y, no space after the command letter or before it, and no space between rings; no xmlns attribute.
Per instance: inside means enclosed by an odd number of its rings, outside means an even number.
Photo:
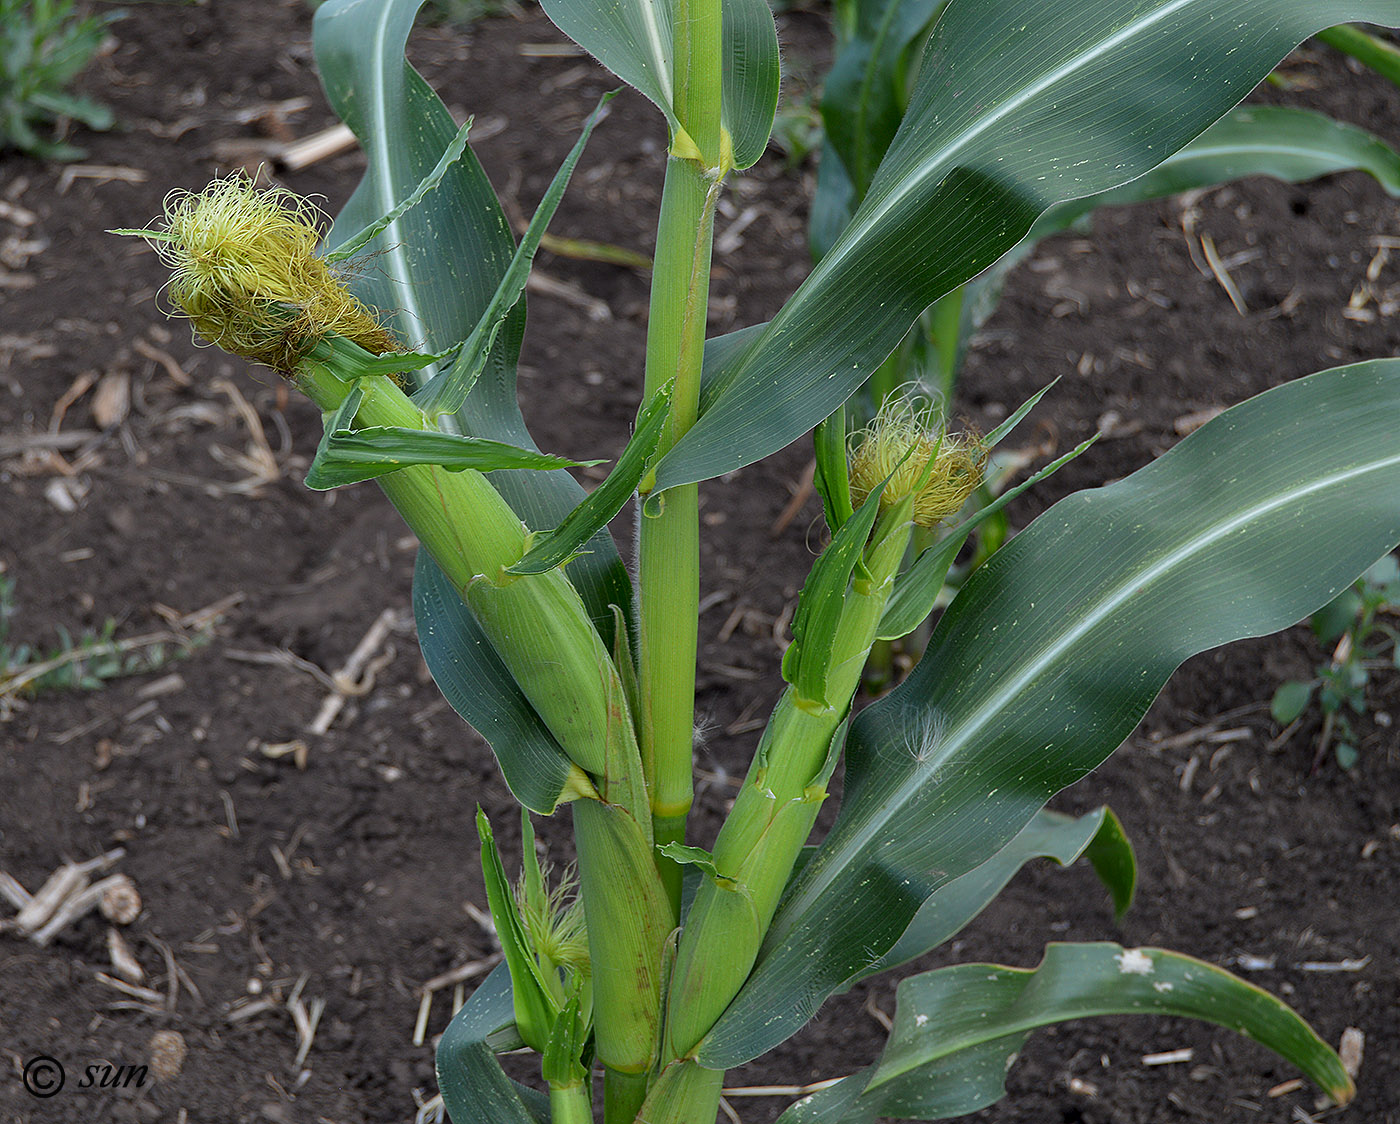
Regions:
<svg viewBox="0 0 1400 1124"><path fill-rule="evenodd" d="M171 267L171 301L204 339L287 375L325 412L357 384L356 427L433 428L395 377L364 377L356 363L403 346L316 256L318 218L290 192L234 175L169 196L162 230L123 232L144 235ZM631 722L619 721L622 683L582 599L560 570L505 572L526 549L519 517L473 470L416 465L379 484L570 759L608 781L609 799L619 799L609 791L619 785L636 792L636 775L626 784L617 775L641 768ZM589 788L578 784L563 795Z"/></svg>

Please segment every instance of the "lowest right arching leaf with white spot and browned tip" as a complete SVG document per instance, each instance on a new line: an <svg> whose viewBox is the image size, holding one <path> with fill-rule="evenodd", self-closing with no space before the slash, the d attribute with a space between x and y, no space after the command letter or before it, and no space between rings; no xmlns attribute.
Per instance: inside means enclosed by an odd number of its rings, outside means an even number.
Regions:
<svg viewBox="0 0 1400 1124"><path fill-rule="evenodd" d="M1096 1015L1218 1023L1288 1058L1333 1100L1345 1104L1355 1093L1337 1054L1308 1023L1224 969L1163 949L1053 943L1036 969L959 964L904 980L879 1061L798 1102L780 1124L973 1113L1005 1093L1007 1071L1032 1030Z"/></svg>

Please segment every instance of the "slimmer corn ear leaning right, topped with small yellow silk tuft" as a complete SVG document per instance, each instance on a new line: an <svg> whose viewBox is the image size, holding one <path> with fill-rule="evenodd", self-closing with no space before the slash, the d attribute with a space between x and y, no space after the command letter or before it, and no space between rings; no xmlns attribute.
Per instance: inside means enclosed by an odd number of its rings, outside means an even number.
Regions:
<svg viewBox="0 0 1400 1124"><path fill-rule="evenodd" d="M839 521L802 589L816 603L798 607L802 635L784 659L791 686L715 840L713 868L721 878L701 880L680 935L664 1062L692 1055L757 957L826 796L913 524L932 526L955 515L981 483L986 462L980 438L951 435L910 403L882 410L858 441L850 466L857 511Z"/></svg>

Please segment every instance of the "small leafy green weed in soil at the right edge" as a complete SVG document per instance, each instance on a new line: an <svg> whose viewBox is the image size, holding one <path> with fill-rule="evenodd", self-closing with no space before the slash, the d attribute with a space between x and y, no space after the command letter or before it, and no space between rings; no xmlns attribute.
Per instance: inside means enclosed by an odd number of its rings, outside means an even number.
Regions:
<svg viewBox="0 0 1400 1124"><path fill-rule="evenodd" d="M1357 584L1312 614L1312 630L1324 645L1334 645L1331 659L1317 665L1317 677L1289 680L1274 691L1270 714L1288 725L1303 715L1313 696L1322 708L1317 735L1316 768L1329 747L1337 764L1357 764L1357 733L1345 711L1366 712L1366 684L1378 669L1400 669L1400 634L1380 620L1380 614L1400 606L1400 560L1386 554ZM1389 648L1389 655L1386 649Z"/></svg>

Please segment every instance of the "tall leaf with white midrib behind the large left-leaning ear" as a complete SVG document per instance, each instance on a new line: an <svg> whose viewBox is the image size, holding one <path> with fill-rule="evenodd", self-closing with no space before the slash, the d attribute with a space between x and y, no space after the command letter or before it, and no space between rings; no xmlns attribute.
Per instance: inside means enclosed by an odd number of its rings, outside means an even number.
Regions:
<svg viewBox="0 0 1400 1124"><path fill-rule="evenodd" d="M452 115L403 56L420 6L421 0L326 0L316 10L314 46L326 97L360 139L368 161L364 179L326 239L330 248L393 211L434 172L456 137ZM356 294L374 308L395 309L392 322L399 335L440 354L455 349L480 322L510 267L515 239L482 165L466 150L434 190L365 249L375 253L375 269L353 279ZM525 428L515 386L524 330L525 305L518 302L455 416L455 428L538 448ZM533 528L557 526L585 497L561 470L500 472L491 483ZM617 605L630 616L633 598L626 567L606 532L588 543L588 553L570 567L568 578L610 648L609 606ZM421 614L419 624L421 630ZM476 634L466 644L475 648L479 640ZM487 728L498 725L477 712ZM500 722L510 726L511 714L507 707Z"/></svg>

